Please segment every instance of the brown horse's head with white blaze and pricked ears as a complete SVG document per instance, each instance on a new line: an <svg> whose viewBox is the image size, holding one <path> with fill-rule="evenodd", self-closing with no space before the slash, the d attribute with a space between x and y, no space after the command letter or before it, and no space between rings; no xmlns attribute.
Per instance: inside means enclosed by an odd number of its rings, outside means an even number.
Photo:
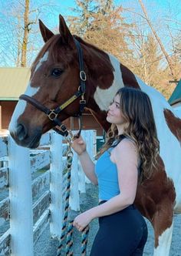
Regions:
<svg viewBox="0 0 181 256"><path fill-rule="evenodd" d="M80 63L77 48L61 15L58 35L54 35L41 21L39 25L45 44L31 67L25 95L47 109L56 109L78 91ZM58 120L77 114L79 103L80 95L61 111ZM13 113L9 130L16 143L34 148L38 147L41 135L55 125L35 104L22 97Z"/></svg>

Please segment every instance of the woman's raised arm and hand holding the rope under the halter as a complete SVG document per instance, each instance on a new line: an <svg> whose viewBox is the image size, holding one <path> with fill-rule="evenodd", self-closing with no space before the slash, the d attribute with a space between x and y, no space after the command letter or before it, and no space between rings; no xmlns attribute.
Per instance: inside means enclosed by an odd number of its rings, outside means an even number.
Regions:
<svg viewBox="0 0 181 256"><path fill-rule="evenodd" d="M80 136L78 139L74 140L71 147L78 154L79 160L81 162L81 167L84 170L85 175L94 185L97 185L97 176L94 172L95 165L91 160L91 157L86 151L86 143Z"/></svg>

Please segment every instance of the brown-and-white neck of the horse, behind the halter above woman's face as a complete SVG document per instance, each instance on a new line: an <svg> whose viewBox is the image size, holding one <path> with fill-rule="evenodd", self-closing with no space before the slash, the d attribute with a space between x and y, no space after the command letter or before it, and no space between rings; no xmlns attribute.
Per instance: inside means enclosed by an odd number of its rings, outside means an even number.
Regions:
<svg viewBox="0 0 181 256"><path fill-rule="evenodd" d="M88 107L96 112L97 106L101 111L107 111L110 102L121 87L139 88L133 72L106 52L87 48L85 64L88 72L87 91L89 98L92 99Z"/></svg>

